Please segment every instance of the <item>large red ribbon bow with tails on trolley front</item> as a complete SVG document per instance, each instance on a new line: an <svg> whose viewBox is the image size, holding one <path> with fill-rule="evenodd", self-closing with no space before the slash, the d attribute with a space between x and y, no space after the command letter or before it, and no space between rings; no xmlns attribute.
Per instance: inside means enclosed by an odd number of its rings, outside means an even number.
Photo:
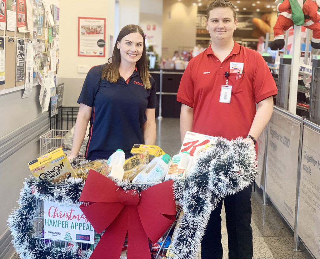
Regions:
<svg viewBox="0 0 320 259"><path fill-rule="evenodd" d="M127 258L151 258L148 237L157 242L175 220L172 185L162 182L138 195L90 170L80 196L89 205L80 209L97 233L106 230L90 259L119 259L127 233Z"/></svg>

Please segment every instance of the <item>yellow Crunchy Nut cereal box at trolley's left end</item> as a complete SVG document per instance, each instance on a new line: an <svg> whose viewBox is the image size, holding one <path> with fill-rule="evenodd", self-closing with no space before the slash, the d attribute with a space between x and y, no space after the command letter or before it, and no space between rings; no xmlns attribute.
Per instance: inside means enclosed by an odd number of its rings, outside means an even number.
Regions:
<svg viewBox="0 0 320 259"><path fill-rule="evenodd" d="M29 162L28 165L35 177L50 181L77 177L61 148Z"/></svg>

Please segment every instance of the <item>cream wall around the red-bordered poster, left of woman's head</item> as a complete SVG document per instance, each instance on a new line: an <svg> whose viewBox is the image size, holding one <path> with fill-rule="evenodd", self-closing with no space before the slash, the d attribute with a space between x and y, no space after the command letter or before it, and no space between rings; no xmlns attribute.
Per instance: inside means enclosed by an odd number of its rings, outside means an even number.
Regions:
<svg viewBox="0 0 320 259"><path fill-rule="evenodd" d="M65 0L60 1L60 79L85 78L78 73L78 65L87 65L89 69L107 62L109 54L109 36L114 36L115 0ZM78 17L106 18L106 58L78 57ZM61 80L63 83L63 80ZM82 86L82 85L81 85ZM65 85L69 87L69 85Z"/></svg>

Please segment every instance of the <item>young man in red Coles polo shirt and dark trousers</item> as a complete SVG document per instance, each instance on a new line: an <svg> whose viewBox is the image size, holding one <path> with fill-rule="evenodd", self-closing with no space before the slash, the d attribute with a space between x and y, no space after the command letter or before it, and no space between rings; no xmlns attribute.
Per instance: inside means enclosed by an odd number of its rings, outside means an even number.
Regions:
<svg viewBox="0 0 320 259"><path fill-rule="evenodd" d="M182 103L181 141L187 131L256 144L273 110L275 82L260 53L233 41L233 4L216 0L207 9L211 45L185 70L177 95ZM257 109L256 109L256 103ZM224 199L229 259L252 258L252 186ZM212 211L201 244L202 259L222 259L222 201Z"/></svg>

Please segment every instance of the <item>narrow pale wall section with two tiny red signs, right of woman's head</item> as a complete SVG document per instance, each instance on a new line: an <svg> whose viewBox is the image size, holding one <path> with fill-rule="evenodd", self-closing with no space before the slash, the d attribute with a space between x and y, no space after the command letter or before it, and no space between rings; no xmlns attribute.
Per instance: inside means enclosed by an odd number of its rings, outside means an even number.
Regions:
<svg viewBox="0 0 320 259"><path fill-rule="evenodd" d="M160 56L162 55L162 10L163 0L140 0L139 25ZM149 30L147 25L151 26ZM155 30L152 28L153 25L156 26Z"/></svg>

